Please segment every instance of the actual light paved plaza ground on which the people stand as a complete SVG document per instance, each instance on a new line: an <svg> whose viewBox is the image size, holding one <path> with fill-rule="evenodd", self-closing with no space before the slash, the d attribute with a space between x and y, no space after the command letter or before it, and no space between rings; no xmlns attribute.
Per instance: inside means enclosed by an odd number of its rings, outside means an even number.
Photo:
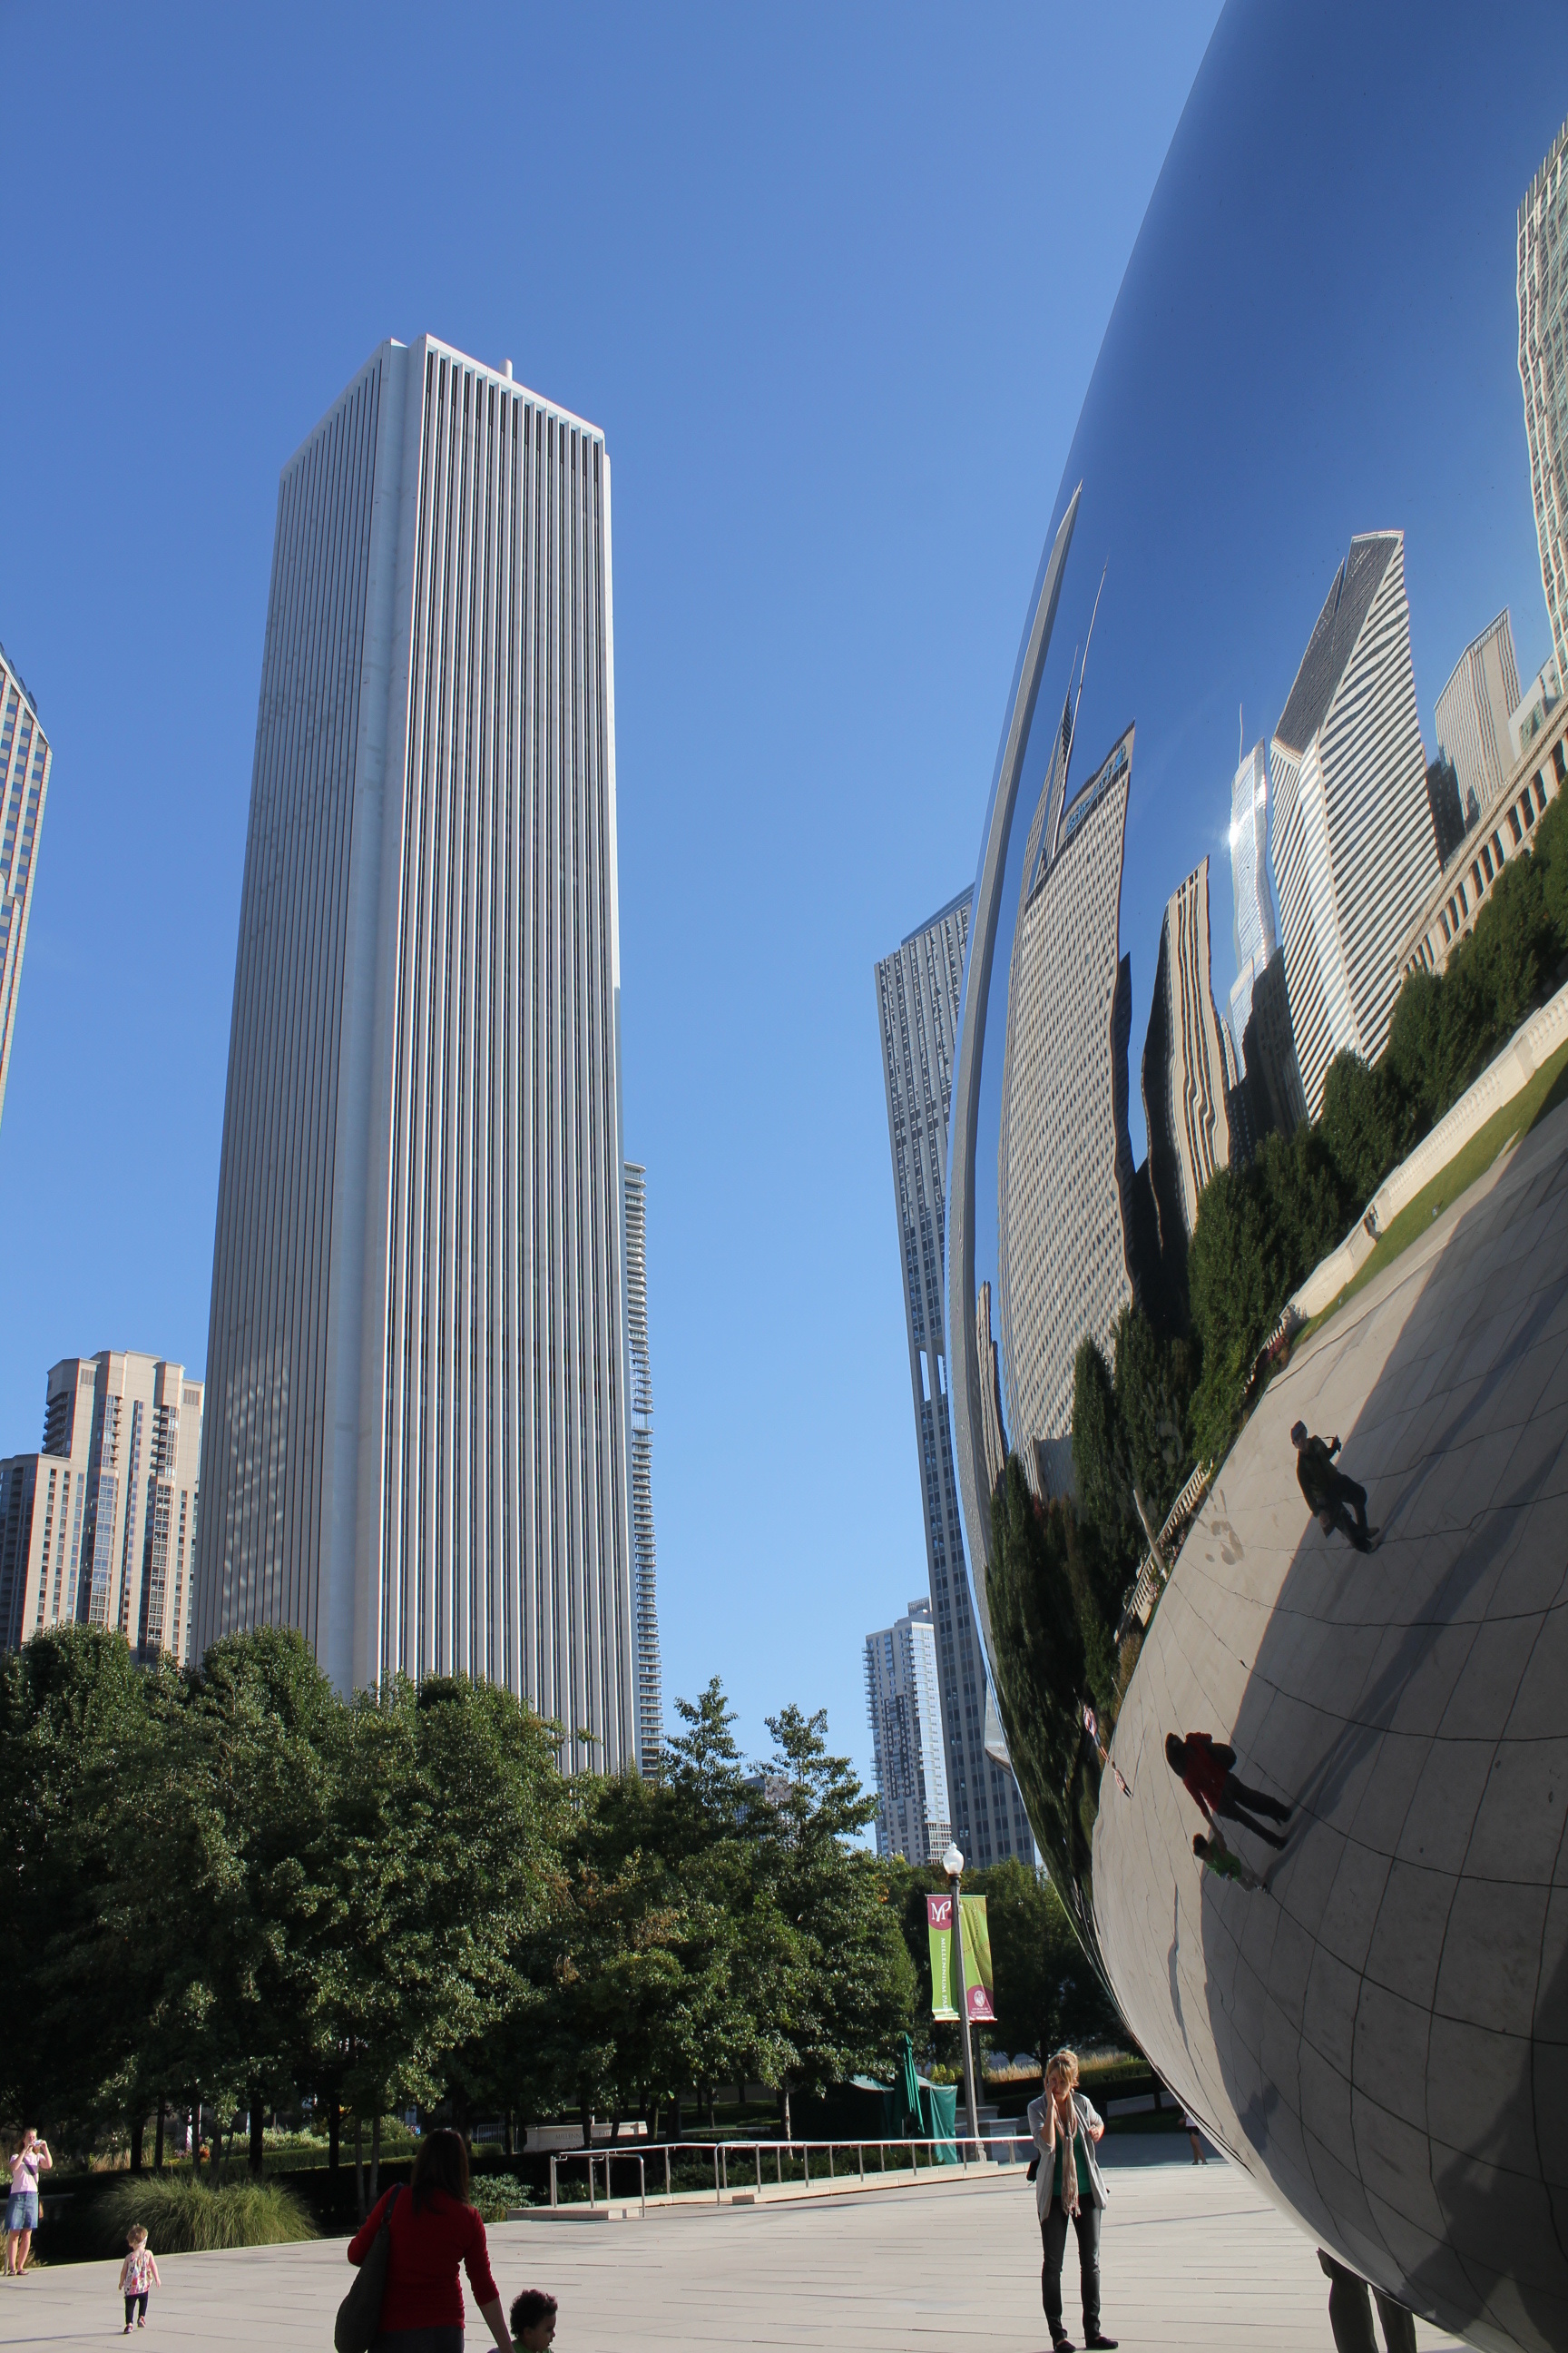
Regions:
<svg viewBox="0 0 1568 2353"><path fill-rule="evenodd" d="M1105 2322L1128 2353L1331 2353L1328 2282L1300 2233L1234 2165L1117 2172L1105 2214ZM491 2228L503 2299L559 2297L562 2353L693 2353L788 2346L910 2353L1039 2353L1039 2226L1023 2172L926 2195L842 2205L686 2207L639 2224L515 2221ZM68 2264L0 2285L5 2341L52 2353L120 2344L115 2264ZM329 2346L348 2285L343 2242L162 2257L136 2348L273 2353ZM1077 2264L1067 2259L1067 2320ZM153 2337L153 2332L158 2332ZM1074 2341L1081 2341L1077 2325ZM489 2332L468 2306L468 2348ZM1420 2332L1422 2353L1448 2346Z"/></svg>

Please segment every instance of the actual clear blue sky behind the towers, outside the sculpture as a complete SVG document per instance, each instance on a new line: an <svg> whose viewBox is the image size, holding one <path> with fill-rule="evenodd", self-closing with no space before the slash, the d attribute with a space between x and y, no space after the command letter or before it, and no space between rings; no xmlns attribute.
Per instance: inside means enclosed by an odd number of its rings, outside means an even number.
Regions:
<svg viewBox="0 0 1568 2353"><path fill-rule="evenodd" d="M973 878L1018 626L1213 0L7 7L0 638L54 739L0 1452L205 1362L277 468L383 334L604 426L665 1692L924 1591L872 962ZM1523 647L1521 647L1523 654Z"/></svg>

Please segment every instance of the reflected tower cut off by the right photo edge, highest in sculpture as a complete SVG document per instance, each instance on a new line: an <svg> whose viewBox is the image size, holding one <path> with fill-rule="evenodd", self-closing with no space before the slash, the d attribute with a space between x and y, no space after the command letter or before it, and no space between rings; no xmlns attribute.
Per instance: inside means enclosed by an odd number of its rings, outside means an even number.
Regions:
<svg viewBox="0 0 1568 2353"><path fill-rule="evenodd" d="M1552 652L1568 678L1568 122L1519 207L1519 381Z"/></svg>

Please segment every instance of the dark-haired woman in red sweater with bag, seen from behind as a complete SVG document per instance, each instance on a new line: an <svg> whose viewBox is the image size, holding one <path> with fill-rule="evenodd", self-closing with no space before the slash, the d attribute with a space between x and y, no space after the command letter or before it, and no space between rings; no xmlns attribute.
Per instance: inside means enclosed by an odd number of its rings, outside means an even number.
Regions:
<svg viewBox="0 0 1568 2353"><path fill-rule="evenodd" d="M362 2264L393 2209L390 2261L381 2299L381 2334L371 2353L463 2353L463 2287L468 2266L475 2304L498 2353L512 2353L501 2289L489 2268L484 2224L468 2205L468 2148L461 2132L428 2132L414 2158L407 2191L378 2198L355 2238L348 2261Z"/></svg>

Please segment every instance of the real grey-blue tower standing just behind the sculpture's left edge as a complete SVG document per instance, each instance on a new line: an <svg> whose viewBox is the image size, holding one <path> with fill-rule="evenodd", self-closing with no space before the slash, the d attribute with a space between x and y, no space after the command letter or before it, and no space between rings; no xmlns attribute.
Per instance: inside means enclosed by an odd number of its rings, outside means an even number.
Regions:
<svg viewBox="0 0 1568 2353"><path fill-rule="evenodd" d="M976 1868L1006 1854L1034 1861L1030 1821L1011 1767L985 1748L985 1652L964 1567L964 1522L952 1473L947 1351L943 1341L943 1233L947 1219L947 1104L964 1005L969 901L952 899L896 955L877 965L877 1019L893 1153L898 1261L910 1341L910 1391L926 1518L926 1569L947 1744L952 1831Z"/></svg>

